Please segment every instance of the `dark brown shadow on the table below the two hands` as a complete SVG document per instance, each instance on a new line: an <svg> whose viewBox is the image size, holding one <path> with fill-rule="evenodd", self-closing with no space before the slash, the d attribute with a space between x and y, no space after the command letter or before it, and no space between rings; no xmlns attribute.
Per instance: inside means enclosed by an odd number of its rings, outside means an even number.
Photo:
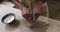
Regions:
<svg viewBox="0 0 60 32"><path fill-rule="evenodd" d="M45 22L36 22L31 29L34 30L34 32L46 32L48 27L49 24L46 24Z"/></svg>

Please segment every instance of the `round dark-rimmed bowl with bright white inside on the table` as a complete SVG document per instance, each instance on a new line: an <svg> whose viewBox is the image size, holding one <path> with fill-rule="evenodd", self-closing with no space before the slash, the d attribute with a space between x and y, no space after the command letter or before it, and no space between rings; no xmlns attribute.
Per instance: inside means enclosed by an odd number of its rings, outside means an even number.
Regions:
<svg viewBox="0 0 60 32"><path fill-rule="evenodd" d="M2 17L2 23L9 24L15 20L15 14L9 13Z"/></svg>

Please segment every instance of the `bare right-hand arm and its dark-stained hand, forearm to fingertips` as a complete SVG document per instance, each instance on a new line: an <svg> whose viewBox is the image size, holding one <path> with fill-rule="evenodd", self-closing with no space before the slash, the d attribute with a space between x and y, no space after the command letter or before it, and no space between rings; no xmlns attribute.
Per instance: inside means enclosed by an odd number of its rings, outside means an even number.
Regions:
<svg viewBox="0 0 60 32"><path fill-rule="evenodd" d="M41 14L41 10L40 10L41 6L42 6L42 1L38 1L36 3L36 5L34 6L34 8L33 8L33 14L34 14L33 21L35 21L40 16L40 14Z"/></svg>

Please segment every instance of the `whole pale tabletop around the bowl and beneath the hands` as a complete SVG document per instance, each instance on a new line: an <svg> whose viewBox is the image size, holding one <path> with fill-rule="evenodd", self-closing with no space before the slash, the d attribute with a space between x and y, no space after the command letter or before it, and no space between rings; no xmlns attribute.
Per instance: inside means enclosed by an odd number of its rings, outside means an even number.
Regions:
<svg viewBox="0 0 60 32"><path fill-rule="evenodd" d="M14 13L16 21L3 24L1 18L8 13ZM40 16L31 28L28 21L22 17L21 10L0 5L0 32L60 32L60 21Z"/></svg>

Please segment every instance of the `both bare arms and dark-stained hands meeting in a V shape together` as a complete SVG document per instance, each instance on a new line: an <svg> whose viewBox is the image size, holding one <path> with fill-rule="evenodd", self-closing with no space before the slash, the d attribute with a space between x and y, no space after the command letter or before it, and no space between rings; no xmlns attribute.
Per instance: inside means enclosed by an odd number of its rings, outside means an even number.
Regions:
<svg viewBox="0 0 60 32"><path fill-rule="evenodd" d="M29 9L22 5L21 3L19 3L18 0L12 0L12 2L15 4L16 7L22 10L23 17L25 17L28 21L36 20L41 14L40 13L40 6L42 5L41 1L38 1L34 6L33 14L30 14ZM31 15L34 15L33 18L31 17Z"/></svg>

